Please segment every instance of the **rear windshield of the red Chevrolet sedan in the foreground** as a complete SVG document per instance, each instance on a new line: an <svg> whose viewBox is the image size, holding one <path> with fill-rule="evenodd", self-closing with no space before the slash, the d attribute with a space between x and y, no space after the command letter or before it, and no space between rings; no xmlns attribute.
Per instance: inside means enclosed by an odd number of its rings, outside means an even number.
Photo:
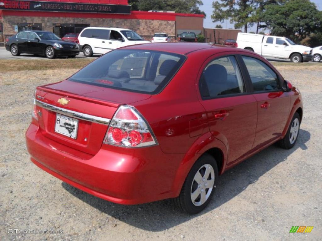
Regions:
<svg viewBox="0 0 322 241"><path fill-rule="evenodd" d="M71 81L131 92L157 94L185 60L184 55L136 49L118 49L93 61Z"/></svg>

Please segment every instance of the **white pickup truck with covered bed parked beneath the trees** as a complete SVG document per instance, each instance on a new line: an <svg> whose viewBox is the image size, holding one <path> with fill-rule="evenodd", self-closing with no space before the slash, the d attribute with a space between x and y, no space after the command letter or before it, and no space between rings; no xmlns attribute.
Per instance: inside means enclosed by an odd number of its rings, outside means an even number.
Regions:
<svg viewBox="0 0 322 241"><path fill-rule="evenodd" d="M291 62L308 62L313 58L312 49L298 45L288 38L239 32L238 48L248 49L263 57L290 59Z"/></svg>

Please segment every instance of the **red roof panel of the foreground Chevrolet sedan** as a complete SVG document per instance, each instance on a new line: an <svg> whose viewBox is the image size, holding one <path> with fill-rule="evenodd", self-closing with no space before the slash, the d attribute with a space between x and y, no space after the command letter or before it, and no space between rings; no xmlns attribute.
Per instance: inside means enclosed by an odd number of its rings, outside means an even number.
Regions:
<svg viewBox="0 0 322 241"><path fill-rule="evenodd" d="M232 50L232 48L224 45L213 45L209 43L189 43L189 42L170 42L170 43L146 43L137 44L123 47L121 49L140 49L140 50L154 50L154 51L164 51L176 54L186 55L190 52L198 51L201 49L211 49L216 48L218 52ZM235 48L234 48L235 49ZM248 52L248 50L238 49L240 51Z"/></svg>

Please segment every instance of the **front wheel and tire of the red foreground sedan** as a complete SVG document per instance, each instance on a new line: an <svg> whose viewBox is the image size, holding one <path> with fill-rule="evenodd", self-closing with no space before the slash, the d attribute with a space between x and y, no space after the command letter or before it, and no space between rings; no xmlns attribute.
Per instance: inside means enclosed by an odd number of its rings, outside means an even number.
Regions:
<svg viewBox="0 0 322 241"><path fill-rule="evenodd" d="M294 147L298 139L300 124L301 124L300 115L298 114L298 112L295 112L285 137L278 142L280 147L284 149L291 149L292 147Z"/></svg>

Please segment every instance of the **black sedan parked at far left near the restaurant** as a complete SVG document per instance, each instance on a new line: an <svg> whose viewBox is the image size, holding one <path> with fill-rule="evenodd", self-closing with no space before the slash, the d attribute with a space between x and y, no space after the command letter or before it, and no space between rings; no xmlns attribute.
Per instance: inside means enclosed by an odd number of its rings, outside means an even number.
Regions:
<svg viewBox="0 0 322 241"><path fill-rule="evenodd" d="M13 56L35 54L55 58L56 56L75 57L80 49L77 43L61 40L47 31L22 31L6 39L5 49Z"/></svg>

